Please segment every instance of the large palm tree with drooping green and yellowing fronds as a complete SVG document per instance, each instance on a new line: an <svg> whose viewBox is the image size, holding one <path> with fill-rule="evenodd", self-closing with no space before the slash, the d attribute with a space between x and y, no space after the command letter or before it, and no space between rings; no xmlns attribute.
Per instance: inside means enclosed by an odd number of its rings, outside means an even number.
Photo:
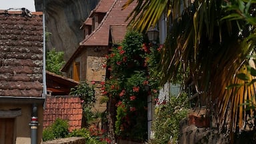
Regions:
<svg viewBox="0 0 256 144"><path fill-rule="evenodd" d="M133 1L127 0L123 9ZM255 66L253 61L247 63L247 55L253 53L256 42L255 3L137 0L137 7L127 18L133 29L143 32L157 25L166 13L167 38L159 63L162 83L188 72L185 81L193 81L202 102L215 107L219 124L229 122L231 139L237 127L245 129L247 115L253 116L255 110L251 106L255 105L256 85L249 83L255 81Z"/></svg>

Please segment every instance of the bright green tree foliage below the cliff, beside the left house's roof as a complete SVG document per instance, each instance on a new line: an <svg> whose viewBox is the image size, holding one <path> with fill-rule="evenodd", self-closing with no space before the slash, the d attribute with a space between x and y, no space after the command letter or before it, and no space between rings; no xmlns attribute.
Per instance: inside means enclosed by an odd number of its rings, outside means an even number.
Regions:
<svg viewBox="0 0 256 144"><path fill-rule="evenodd" d="M55 49L48 51L46 54L46 70L61 75L59 70L65 63L63 56L63 51L58 52Z"/></svg>

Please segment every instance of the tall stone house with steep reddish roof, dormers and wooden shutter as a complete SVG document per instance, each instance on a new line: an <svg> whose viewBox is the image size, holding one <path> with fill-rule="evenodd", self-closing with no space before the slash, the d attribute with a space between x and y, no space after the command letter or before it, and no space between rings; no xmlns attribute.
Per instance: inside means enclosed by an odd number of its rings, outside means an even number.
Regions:
<svg viewBox="0 0 256 144"><path fill-rule="evenodd" d="M125 1L121 0L101 0L91 11L91 14L81 26L83 31L83 41L70 57L69 61L61 69L65 75L75 81L87 81L96 83L96 111L104 111L106 105L100 104L101 81L105 81L106 57L111 45L120 43L127 31L127 16L135 3L127 9L122 10Z"/></svg>

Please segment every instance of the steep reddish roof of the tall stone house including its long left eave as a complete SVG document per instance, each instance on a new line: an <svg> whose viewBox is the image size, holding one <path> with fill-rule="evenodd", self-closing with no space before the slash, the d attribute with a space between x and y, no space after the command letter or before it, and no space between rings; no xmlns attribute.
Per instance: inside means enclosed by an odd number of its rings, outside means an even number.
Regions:
<svg viewBox="0 0 256 144"><path fill-rule="evenodd" d="M107 1L106 3L109 3L108 0L105 0L105 1ZM103 1L101 1L101 3L103 3ZM77 57L77 55L79 55L81 51L85 49L85 47L83 46L107 47L109 45L110 27L113 27L113 26L127 27L129 21L125 21L125 19L127 19L127 16L131 13L131 11L133 11L137 3L133 2L131 3L131 5L129 5L129 7L127 7L127 9L121 10L124 4L125 4L125 1L123 0L112 1L112 7L109 8L109 11L105 15L104 19L101 21L99 26L95 29L95 31L91 33L91 35L89 35L83 41L81 41L81 43L79 43L79 47L77 48L75 53L73 53L69 61L65 63L61 71L66 71L68 69L73 59L75 59L75 57ZM88 22L89 22L89 19L88 19ZM123 33L119 33L119 35L125 35L125 33L126 31L123 31ZM121 37L121 36L118 36L118 37Z"/></svg>

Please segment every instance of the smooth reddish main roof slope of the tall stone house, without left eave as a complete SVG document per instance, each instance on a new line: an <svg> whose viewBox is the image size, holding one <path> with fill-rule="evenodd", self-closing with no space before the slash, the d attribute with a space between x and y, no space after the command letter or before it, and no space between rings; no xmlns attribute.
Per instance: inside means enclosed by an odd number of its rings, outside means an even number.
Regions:
<svg viewBox="0 0 256 144"><path fill-rule="evenodd" d="M102 20L101 24L89 37L81 41L80 45L109 45L109 27L110 25L123 25L127 26L129 21L125 21L127 16L133 11L137 3L131 3L125 10L121 10L126 1L115 0L113 7L109 9L107 15ZM125 33L125 31L123 32Z"/></svg>

